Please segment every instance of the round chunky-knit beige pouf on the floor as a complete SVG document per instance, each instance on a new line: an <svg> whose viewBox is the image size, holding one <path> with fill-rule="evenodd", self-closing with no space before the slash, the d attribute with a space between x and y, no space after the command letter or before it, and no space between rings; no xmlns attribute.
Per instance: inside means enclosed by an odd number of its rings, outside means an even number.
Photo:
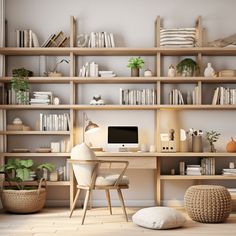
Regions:
<svg viewBox="0 0 236 236"><path fill-rule="evenodd" d="M202 223L220 223L229 217L231 196L223 186L195 185L187 189L184 205L192 220Z"/></svg>

